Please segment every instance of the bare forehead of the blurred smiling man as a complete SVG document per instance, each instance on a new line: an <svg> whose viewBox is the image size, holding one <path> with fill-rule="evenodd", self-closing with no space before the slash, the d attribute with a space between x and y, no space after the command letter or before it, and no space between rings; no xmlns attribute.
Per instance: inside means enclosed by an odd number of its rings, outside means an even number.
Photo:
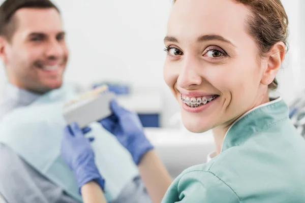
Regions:
<svg viewBox="0 0 305 203"><path fill-rule="evenodd" d="M22 8L15 13L16 31L58 33L62 19L56 9Z"/></svg>

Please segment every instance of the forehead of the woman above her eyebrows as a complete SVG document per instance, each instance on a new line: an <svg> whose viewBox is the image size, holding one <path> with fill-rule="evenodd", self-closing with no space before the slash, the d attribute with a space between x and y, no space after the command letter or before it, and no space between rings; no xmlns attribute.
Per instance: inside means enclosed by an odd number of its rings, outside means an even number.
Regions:
<svg viewBox="0 0 305 203"><path fill-rule="evenodd" d="M167 36L196 40L202 35L220 35L234 41L248 37L248 8L231 0L177 0L168 20Z"/></svg>

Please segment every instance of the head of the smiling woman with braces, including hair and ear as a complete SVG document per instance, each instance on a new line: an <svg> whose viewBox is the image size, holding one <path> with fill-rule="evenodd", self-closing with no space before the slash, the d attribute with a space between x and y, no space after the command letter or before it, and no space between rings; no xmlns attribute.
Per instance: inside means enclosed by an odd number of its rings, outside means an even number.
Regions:
<svg viewBox="0 0 305 203"><path fill-rule="evenodd" d="M221 6L203 1L208 10L191 8L195 3L174 2L164 39L168 52L165 81L176 98L182 99L182 119L189 130L222 126L217 129L223 137L234 120L269 101L268 89L277 88L287 15L275 0L218 1ZM184 6L194 12L186 15ZM196 107L192 98L196 103L198 98L198 103L200 98L214 100ZM200 119L207 116L210 122Z"/></svg>

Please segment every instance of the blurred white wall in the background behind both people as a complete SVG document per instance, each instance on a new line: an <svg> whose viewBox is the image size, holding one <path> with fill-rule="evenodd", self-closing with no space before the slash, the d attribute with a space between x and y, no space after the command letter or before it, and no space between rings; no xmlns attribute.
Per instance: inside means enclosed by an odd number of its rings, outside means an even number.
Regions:
<svg viewBox="0 0 305 203"><path fill-rule="evenodd" d="M3 1L0 1L3 2ZM62 11L70 62L66 81L84 87L104 81L124 83L144 99L133 106L160 111L160 126L177 127L178 106L163 81L163 38L171 0L54 0ZM290 49L279 74L279 92L290 103L305 88L305 3L282 1L289 16ZM6 82L0 66L0 92ZM148 97L150 95L150 97ZM154 98L157 97L156 104ZM146 98L146 99L145 99ZM159 99L159 100L158 100ZM159 102L160 101L160 102Z"/></svg>

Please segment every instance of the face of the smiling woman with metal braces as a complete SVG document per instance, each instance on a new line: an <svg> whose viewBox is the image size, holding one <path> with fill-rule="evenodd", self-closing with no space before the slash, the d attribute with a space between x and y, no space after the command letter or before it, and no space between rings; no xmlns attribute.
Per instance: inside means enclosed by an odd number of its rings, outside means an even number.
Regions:
<svg viewBox="0 0 305 203"><path fill-rule="evenodd" d="M250 11L231 0L178 0L164 39L164 79L192 132L229 126L267 95L265 66L247 32Z"/></svg>

